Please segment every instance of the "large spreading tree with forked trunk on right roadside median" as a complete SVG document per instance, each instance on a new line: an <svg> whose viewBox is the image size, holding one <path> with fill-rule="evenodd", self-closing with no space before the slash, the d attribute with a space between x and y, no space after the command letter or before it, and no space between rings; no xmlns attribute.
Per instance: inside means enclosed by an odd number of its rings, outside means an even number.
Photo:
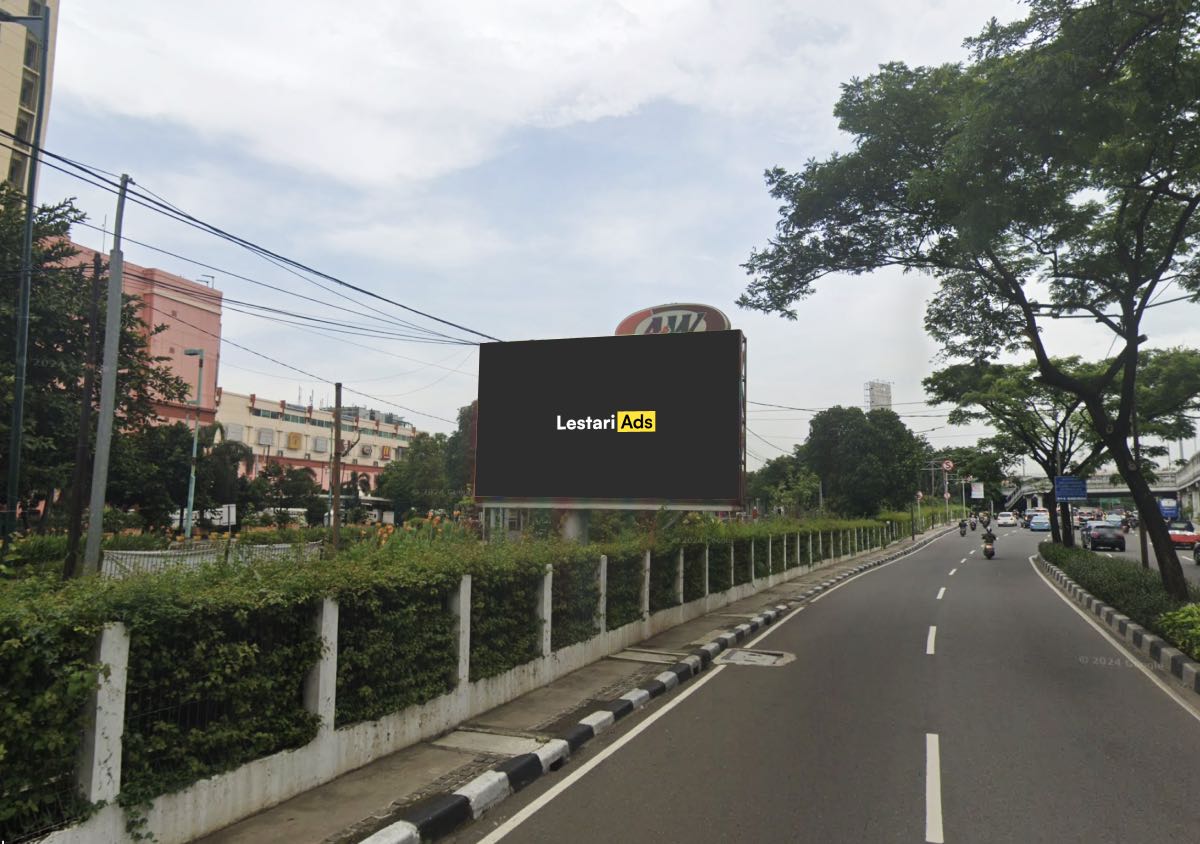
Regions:
<svg viewBox="0 0 1200 844"><path fill-rule="evenodd" d="M1187 598L1129 437L1148 307L1200 292L1200 6L1181 0L1030 0L992 20L970 60L883 65L844 85L853 150L767 181L781 200L740 303L794 317L830 274L901 267L941 282L926 328L947 354L1032 353L1080 400L1129 484L1166 589ZM1178 297L1175 297L1178 298ZM1046 319L1106 328L1092 377L1055 363ZM1117 400L1106 401L1116 387Z"/></svg>

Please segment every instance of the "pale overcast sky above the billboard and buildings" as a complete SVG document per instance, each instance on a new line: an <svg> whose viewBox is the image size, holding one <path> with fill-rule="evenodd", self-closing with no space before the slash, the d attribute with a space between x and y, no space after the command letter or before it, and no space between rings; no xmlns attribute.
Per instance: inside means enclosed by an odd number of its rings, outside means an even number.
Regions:
<svg viewBox="0 0 1200 844"><path fill-rule="evenodd" d="M937 351L923 330L932 282L827 279L787 322L736 307L739 264L778 217L763 170L848 148L833 119L840 83L884 61L961 60L965 36L1020 12L1010 0L64 0L46 145L503 340L607 335L641 307L707 303L748 335L751 400L862 406L877 378L906 402L896 411L930 414L916 402ZM112 194L43 173L41 200L76 196L92 223L110 225ZM125 234L332 300L138 206ZM102 245L85 228L76 239ZM132 243L126 258L210 273ZM364 322L211 274L229 298ZM1192 305L1160 309L1151 345L1194 345L1195 317ZM1098 358L1111 340L1079 321L1055 328L1055 353ZM355 346L228 310L223 334L409 408L424 430L451 430L437 417L475 396L472 346L348 337ZM228 345L221 384L332 397ZM751 467L802 442L809 418L752 412L767 442L749 439ZM979 433L937 415L906 421L935 445Z"/></svg>

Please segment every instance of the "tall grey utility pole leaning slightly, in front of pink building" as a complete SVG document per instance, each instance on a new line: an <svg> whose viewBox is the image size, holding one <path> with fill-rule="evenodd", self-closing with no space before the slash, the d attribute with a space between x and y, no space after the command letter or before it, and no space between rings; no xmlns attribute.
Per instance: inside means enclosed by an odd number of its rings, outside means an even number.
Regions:
<svg viewBox="0 0 1200 844"><path fill-rule="evenodd" d="M108 487L108 449L113 443L113 417L116 411L116 370L120 369L121 281L125 257L121 255L121 222L125 219L125 194L130 176L121 174L116 194L116 221L113 225L113 251L108 257L108 300L104 311L104 364L100 376L100 420L96 427L96 456L91 466L91 498L88 503L88 545L84 551L85 574L100 573L100 540L104 535L104 491Z"/></svg>

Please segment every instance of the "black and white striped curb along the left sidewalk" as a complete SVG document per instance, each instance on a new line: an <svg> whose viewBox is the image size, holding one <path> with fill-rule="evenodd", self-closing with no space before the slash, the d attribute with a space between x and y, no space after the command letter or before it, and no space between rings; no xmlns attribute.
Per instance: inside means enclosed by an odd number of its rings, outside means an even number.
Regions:
<svg viewBox="0 0 1200 844"><path fill-rule="evenodd" d="M403 809L400 820L364 838L359 844L421 844L421 842L427 844L450 834L462 824L479 818L544 773L562 767L568 756L625 716L636 712L655 698L686 683L704 671L722 651L737 646L751 634L779 621L792 609L832 589L841 581L919 551L948 532L941 531L934 537L878 559L865 561L830 576L799 595L761 611L728 633L722 633L713 641L697 647L654 677L643 688L632 689L616 700L602 704L599 710L581 718L575 726L558 738L547 741L536 752L514 756L493 770L481 773L451 794L437 795Z"/></svg>

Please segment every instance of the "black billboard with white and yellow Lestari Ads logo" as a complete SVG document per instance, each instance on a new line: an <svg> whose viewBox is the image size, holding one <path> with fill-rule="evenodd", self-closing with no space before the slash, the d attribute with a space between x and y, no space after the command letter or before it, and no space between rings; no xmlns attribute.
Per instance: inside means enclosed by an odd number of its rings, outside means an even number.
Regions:
<svg viewBox="0 0 1200 844"><path fill-rule="evenodd" d="M740 331L482 343L476 499L740 507L743 363Z"/></svg>

